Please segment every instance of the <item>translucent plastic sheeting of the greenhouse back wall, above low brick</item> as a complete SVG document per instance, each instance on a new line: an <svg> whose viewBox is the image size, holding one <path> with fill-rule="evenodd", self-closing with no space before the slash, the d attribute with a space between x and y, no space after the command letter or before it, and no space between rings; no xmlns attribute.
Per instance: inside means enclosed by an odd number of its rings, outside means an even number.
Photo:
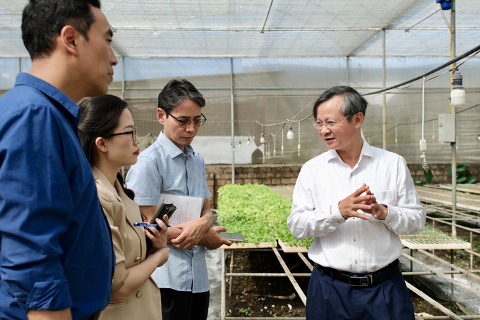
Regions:
<svg viewBox="0 0 480 320"><path fill-rule="evenodd" d="M208 147L208 138L202 138L203 153L222 153L223 163L230 163L231 121L230 121L230 74L229 59L208 61L209 69L220 74L188 76L190 67L194 74L196 65L205 59L126 59L128 76L136 77L143 66L159 78L131 80L126 82L125 99L131 104L133 117L140 136L148 133L157 136L161 125L155 118L157 95L167 82L174 77L191 81L207 100L203 114L208 121L200 128L198 136L223 136L224 143L217 142ZM433 57L388 57L387 85L394 85L413 78L448 59ZM204 61L205 62L205 61ZM179 67L176 73L172 66ZM301 150L298 155L299 124L293 123L294 140L287 140L288 124L284 125L284 154L281 154L282 124L264 126L265 145L260 144L261 124L269 125L284 122L286 119L303 119L312 112L308 105L316 96L333 85L351 85L361 93L378 90L382 87L382 64L380 58L351 57L347 83L347 62L344 58L244 58L233 59L234 65L234 132L235 153L244 159L243 153L252 153L247 148L238 148L239 141L246 146L248 135L252 143L260 147L266 163L304 163L327 148L320 140L316 129L311 126L310 117L300 124ZM460 66L467 92L467 105L457 108L457 162L477 162L480 160L480 59L473 58ZM445 69L446 70L446 69ZM443 70L443 71L445 71ZM162 78L166 72L168 77ZM441 72L441 71L440 71ZM439 73L440 73L439 72ZM438 73L437 73L438 74ZM187 76L186 76L187 75ZM121 83L111 85L111 93L121 95ZM438 143L438 114L450 112L450 73L426 82L425 130L428 162L450 162L451 147L448 143ZM363 125L366 141L382 148L383 100L381 95L367 96L368 109ZM306 107L308 105L308 107ZM471 109L469 109L471 108ZM303 111L302 111L303 109ZM421 139L421 84L387 95L387 149L399 153L407 162L420 163L419 140ZM395 131L395 126L397 129ZM280 132L280 134L278 134ZM278 134L271 136L271 134ZM253 138L253 136L255 138ZM435 138L433 137L435 136ZM395 142L396 138L396 142ZM199 139L200 140L200 139ZM265 150L261 148L265 148ZM221 150L221 151L220 151ZM273 151L275 150L275 157ZM270 151L270 154L269 154ZM229 157L229 160L226 160ZM263 158L253 156L256 162ZM260 159L260 160L259 160ZM212 160L215 162L215 160ZM244 160L242 160L243 162ZM213 163L210 162L210 163Z"/></svg>

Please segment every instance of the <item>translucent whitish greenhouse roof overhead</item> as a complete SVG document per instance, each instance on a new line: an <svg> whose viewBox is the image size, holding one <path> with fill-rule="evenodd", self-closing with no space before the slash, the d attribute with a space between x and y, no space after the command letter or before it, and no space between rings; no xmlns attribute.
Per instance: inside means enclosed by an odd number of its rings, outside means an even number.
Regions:
<svg viewBox="0 0 480 320"><path fill-rule="evenodd" d="M0 57L28 57L26 3L0 0ZM382 29L388 56L448 57L439 9L435 0L102 1L119 57L380 56ZM460 54L479 45L480 1L456 0L456 13Z"/></svg>

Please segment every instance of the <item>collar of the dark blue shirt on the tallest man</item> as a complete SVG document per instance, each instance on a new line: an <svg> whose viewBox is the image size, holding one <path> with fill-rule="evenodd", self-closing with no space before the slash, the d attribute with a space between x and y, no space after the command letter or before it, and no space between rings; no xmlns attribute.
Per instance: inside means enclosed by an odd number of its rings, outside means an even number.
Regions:
<svg viewBox="0 0 480 320"><path fill-rule="evenodd" d="M17 85L28 85L41 91L44 93L44 95L47 95L47 97L52 98L51 100L58 102L58 104L54 104L57 108L60 105L66 109L66 112L71 114L74 119L78 118L80 108L76 102L67 97L65 93L62 93L58 88L54 87L54 85L51 85L50 83L47 83L46 81L43 81L42 79L25 72L20 73L17 76L15 86Z"/></svg>

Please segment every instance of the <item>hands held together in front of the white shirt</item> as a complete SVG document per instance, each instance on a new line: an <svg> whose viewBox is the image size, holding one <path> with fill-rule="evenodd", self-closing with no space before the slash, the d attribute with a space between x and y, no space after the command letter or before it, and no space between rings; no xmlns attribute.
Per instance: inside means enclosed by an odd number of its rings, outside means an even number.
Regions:
<svg viewBox="0 0 480 320"><path fill-rule="evenodd" d="M366 195L361 196L361 194L364 193L366 193ZM350 194L347 198L340 201L338 203L338 210L345 220L352 217L368 220L368 215L361 214L358 210L370 213L373 218L378 220L383 220L387 218L388 215L387 208L380 206L370 191L370 187L366 184L362 184L353 194Z"/></svg>

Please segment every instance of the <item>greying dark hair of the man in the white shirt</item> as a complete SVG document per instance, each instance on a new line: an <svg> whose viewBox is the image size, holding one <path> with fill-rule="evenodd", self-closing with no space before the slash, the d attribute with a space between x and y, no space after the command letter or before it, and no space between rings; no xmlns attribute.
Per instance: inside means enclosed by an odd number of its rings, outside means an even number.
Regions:
<svg viewBox="0 0 480 320"><path fill-rule="evenodd" d="M340 112L345 117L349 117L352 114L356 114L361 112L365 115L366 106L368 102L366 102L365 98L358 93L354 88L347 87L347 86L337 86L332 87L326 90L318 99L316 100L315 104L313 105L313 117L317 119L317 109L320 103L328 101L335 97L335 95L342 95L343 96L343 105ZM349 122L352 122L352 118L347 119Z"/></svg>

